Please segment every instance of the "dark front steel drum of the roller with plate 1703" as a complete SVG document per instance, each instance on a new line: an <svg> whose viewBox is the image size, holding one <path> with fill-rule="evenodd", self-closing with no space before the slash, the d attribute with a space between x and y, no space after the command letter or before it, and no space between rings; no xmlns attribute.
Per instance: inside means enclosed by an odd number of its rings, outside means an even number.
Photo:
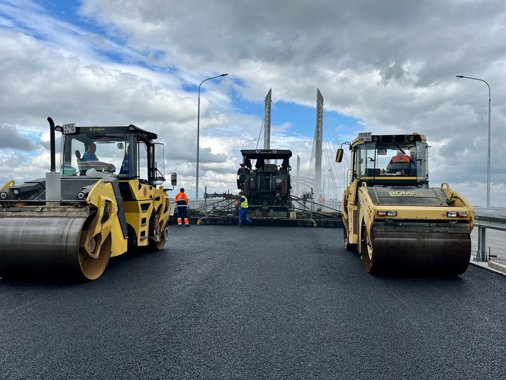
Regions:
<svg viewBox="0 0 506 380"><path fill-rule="evenodd" d="M471 259L469 233L376 231L372 246L374 273L461 275Z"/></svg>

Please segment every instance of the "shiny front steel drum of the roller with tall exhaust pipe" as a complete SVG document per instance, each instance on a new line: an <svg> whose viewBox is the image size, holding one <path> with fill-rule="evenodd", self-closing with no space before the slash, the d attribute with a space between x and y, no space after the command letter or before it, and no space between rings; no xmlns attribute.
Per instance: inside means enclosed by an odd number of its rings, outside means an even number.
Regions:
<svg viewBox="0 0 506 380"><path fill-rule="evenodd" d="M85 221L86 217L0 218L0 277L89 278L79 259Z"/></svg>

